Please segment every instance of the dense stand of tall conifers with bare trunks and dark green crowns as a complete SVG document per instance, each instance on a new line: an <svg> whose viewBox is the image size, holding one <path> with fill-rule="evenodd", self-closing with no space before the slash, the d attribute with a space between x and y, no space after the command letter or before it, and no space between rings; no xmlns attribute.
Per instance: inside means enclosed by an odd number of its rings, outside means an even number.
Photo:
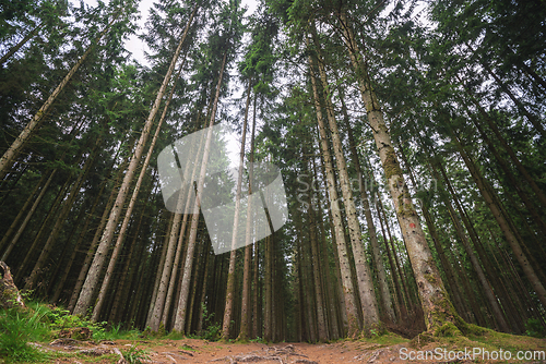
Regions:
<svg viewBox="0 0 546 364"><path fill-rule="evenodd" d="M544 1L5 0L0 57L0 260L24 294L214 340L546 333ZM254 162L286 193L282 227L237 213L223 254L211 133L177 157L185 208L158 168L214 125L240 162L223 201L259 195Z"/></svg>

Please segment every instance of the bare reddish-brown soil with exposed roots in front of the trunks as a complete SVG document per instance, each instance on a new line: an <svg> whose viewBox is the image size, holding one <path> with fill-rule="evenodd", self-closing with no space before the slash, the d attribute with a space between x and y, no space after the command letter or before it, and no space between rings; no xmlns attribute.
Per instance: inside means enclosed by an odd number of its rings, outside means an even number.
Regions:
<svg viewBox="0 0 546 364"><path fill-rule="evenodd" d="M531 338L527 338L531 339ZM61 341L59 341L61 340ZM46 351L57 352L50 363L68 364L92 364L92 363L129 363L121 359L121 353L126 353L133 348L138 353L145 352L147 359L142 363L150 364L174 364L174 363L260 363L260 364L314 364L314 363L407 363L407 355L412 351L417 354L419 351L434 352L435 349L443 347L448 351L464 350L470 343L429 343L419 348L415 342L391 337L388 342L381 340L354 340L339 341L323 344L309 343L225 343L210 342L199 339L181 340L116 340L103 341L100 343L90 343L72 339L59 339L49 344L41 344ZM376 341L376 342L373 342ZM384 340L383 340L384 341ZM546 340L526 340L529 348L534 350L546 350ZM478 342L473 342L477 344ZM487 344L486 344L487 347ZM67 355L66 353L71 353ZM406 353L406 354L401 354ZM406 355L404 357L404 355ZM128 357L130 359L130 357ZM456 357L446 357L441 360L418 360L412 363L546 363L546 361L492 361L475 359L468 360ZM132 363L135 363L134 361Z"/></svg>

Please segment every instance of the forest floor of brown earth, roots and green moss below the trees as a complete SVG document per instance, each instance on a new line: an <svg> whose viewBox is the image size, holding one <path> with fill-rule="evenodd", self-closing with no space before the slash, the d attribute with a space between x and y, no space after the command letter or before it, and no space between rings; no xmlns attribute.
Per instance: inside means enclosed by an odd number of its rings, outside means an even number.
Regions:
<svg viewBox="0 0 546 364"><path fill-rule="evenodd" d="M48 363L59 364L546 363L544 357L546 339L492 331L475 338L442 338L440 341L427 344L416 339L411 341L390 333L371 339L318 344L226 343L185 338L180 340L115 340L99 343L59 339L49 344L39 345L41 350L49 352ZM477 353L477 350L480 350L480 353ZM121 355L124 357L122 359ZM517 360L518 355L522 360ZM541 355L543 356L539 357ZM495 357L497 360L494 360Z"/></svg>

